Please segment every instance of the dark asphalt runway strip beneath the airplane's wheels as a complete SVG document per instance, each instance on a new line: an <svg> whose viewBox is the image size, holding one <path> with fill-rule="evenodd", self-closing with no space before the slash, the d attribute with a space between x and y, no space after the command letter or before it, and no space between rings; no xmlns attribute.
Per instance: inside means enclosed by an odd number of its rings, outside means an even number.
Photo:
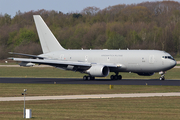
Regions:
<svg viewBox="0 0 180 120"><path fill-rule="evenodd" d="M0 83L31 83L31 84L106 84L106 85L166 85L180 86L180 80L155 79L96 79L83 80L81 78L0 78Z"/></svg>

